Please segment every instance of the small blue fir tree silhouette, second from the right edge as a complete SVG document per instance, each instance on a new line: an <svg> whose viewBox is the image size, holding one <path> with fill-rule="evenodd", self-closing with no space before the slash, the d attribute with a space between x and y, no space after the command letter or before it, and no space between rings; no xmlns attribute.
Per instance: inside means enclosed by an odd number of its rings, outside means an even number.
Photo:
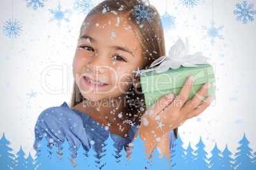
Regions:
<svg viewBox="0 0 256 170"><path fill-rule="evenodd" d="M224 151L222 152L222 162L221 165L222 167L220 169L223 170L229 170L229 169L234 169L234 165L232 162L234 162L234 159L232 159L230 156L232 155L232 153L229 151L229 149L227 148L227 144L226 147L224 149Z"/></svg>

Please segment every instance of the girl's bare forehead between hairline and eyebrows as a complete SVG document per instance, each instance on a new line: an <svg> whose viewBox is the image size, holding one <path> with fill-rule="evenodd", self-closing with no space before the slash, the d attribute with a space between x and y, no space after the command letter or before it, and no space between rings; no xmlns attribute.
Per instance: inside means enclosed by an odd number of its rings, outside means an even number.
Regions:
<svg viewBox="0 0 256 170"><path fill-rule="evenodd" d="M97 42L115 42L119 45L127 45L141 48L134 29L124 16L118 15L96 15L90 18L82 30L82 36L87 35L96 39ZM123 43L123 44L120 44Z"/></svg>

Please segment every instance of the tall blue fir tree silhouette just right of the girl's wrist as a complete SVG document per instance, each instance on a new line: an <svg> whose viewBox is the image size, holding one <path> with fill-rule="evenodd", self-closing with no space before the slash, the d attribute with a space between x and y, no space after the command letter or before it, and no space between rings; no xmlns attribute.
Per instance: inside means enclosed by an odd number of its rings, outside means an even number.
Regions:
<svg viewBox="0 0 256 170"><path fill-rule="evenodd" d="M182 147L183 141L180 138L180 135L178 134L177 140L174 141L174 147L172 148L173 153L171 153L171 167L172 170L175 169L183 169L185 166L185 153L184 153L184 148Z"/></svg>

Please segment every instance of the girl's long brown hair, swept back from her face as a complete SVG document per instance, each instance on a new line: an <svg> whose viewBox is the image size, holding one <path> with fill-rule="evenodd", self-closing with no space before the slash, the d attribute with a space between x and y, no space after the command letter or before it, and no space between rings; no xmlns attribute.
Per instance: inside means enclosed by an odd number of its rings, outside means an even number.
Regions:
<svg viewBox="0 0 256 170"><path fill-rule="evenodd" d="M139 23L138 18L132 15L135 11L134 6L142 6L145 5L146 9L150 9L154 16L152 17L152 22L148 22L146 20L145 23ZM105 10L104 9L110 9ZM122 8L122 10L120 10ZM97 6L95 6L90 13L83 20L82 26L80 28L80 35L78 37L78 41L82 36L82 30L84 29L84 24L89 21L90 18L96 15L113 15L113 11L115 11L118 15L122 15L123 17L129 18L128 22L131 25L132 29L138 36L139 41L141 42L141 46L143 48L143 67L142 69L147 69L150 64L159 58L160 56L166 55L166 48L164 42L164 31L162 29L162 23L160 21L160 15L157 9L150 4L148 0L146 1L138 1L138 0L105 0ZM130 103L128 108L129 111L136 112L136 116L133 116L134 119L132 121L140 124L141 116L146 111L146 105L144 100L144 95L141 93L141 88L133 87L131 91L128 93L127 100ZM135 101L140 101L139 106L134 104ZM74 107L78 103L83 101L83 96L80 93L76 82L73 83L73 95L71 96L71 107ZM178 128L174 129L175 136L178 136Z"/></svg>

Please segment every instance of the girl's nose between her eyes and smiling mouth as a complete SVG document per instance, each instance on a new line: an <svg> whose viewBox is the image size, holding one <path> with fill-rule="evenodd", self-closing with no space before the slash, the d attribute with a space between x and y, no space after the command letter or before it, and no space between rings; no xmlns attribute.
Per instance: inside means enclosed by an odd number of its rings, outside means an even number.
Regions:
<svg viewBox="0 0 256 170"><path fill-rule="evenodd" d="M92 59L89 63L87 63L86 67L91 72L94 72L94 74L104 74L104 63L106 63L106 61L104 60L103 56L96 53L96 55L92 56Z"/></svg>

